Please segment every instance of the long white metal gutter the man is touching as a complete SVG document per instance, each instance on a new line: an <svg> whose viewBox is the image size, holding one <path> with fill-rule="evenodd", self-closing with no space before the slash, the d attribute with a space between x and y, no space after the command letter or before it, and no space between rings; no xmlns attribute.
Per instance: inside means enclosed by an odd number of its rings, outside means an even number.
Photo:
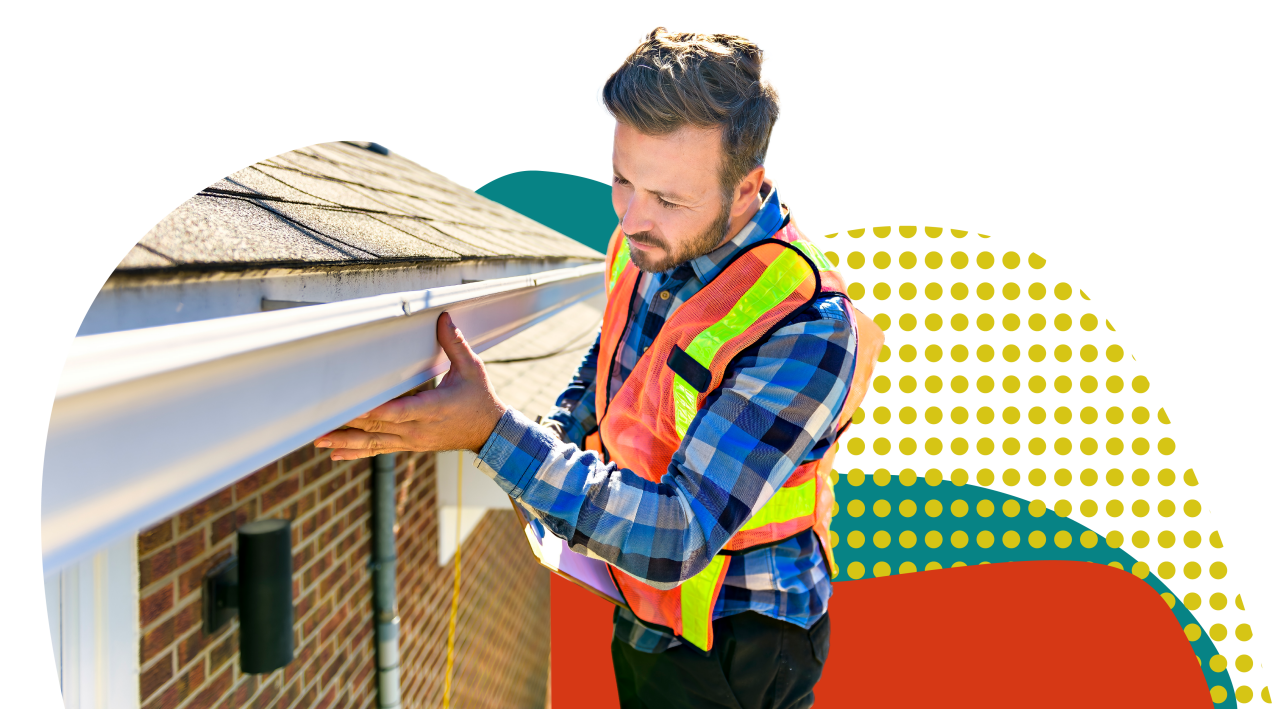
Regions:
<svg viewBox="0 0 1280 709"><path fill-rule="evenodd" d="M603 289L603 264L76 338L45 450L45 572L198 502Z"/></svg>

